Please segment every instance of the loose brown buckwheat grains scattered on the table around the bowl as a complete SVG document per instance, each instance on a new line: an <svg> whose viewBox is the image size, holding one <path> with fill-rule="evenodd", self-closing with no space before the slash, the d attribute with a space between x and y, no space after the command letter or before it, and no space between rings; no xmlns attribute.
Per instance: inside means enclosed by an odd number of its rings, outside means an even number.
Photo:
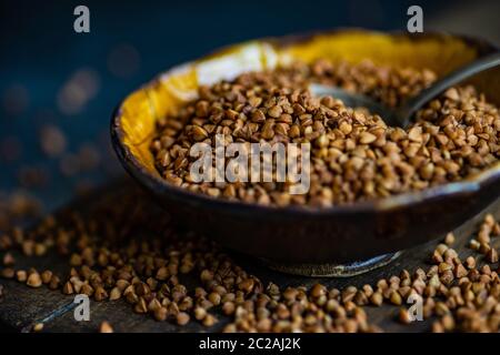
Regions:
<svg viewBox="0 0 500 355"><path fill-rule="evenodd" d="M223 332L380 332L367 307L400 306L399 321L407 324L407 300L416 295L433 332L498 332L499 258L492 239L499 235L500 224L487 215L470 242L477 254L466 260L452 248L450 233L430 255L431 266L359 288L319 283L280 288L249 274L214 243L172 230L164 212L133 191L103 196L86 214L70 209L34 230L1 235L0 276L97 302L124 298L133 312L159 322L198 322ZM17 257L54 252L68 261L66 272L16 266ZM113 328L104 322L100 331Z"/></svg>

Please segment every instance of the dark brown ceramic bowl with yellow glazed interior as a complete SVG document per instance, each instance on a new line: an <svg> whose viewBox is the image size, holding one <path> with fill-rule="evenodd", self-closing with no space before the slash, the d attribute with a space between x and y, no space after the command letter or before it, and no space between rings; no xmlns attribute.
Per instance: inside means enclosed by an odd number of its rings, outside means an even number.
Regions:
<svg viewBox="0 0 500 355"><path fill-rule="evenodd" d="M280 263L367 260L440 237L473 216L498 197L500 165L462 182L352 205L264 207L216 200L168 184L149 151L157 119L173 114L194 99L200 84L292 60L358 62L369 58L378 64L429 68L443 75L493 51L487 42L466 37L364 30L250 41L170 69L129 94L112 116L112 142L127 171L176 221L230 248ZM474 83L500 105L498 70L474 78Z"/></svg>

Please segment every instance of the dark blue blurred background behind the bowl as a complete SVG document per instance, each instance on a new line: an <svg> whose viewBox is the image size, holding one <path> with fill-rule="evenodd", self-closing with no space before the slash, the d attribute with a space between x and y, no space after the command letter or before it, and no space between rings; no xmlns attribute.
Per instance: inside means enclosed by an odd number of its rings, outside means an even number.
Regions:
<svg viewBox="0 0 500 355"><path fill-rule="evenodd" d="M73 31L78 4L90 9L90 33ZM0 202L22 191L51 210L120 174L110 114L159 71L252 38L406 30L411 4L424 31L500 43L500 1L2 1Z"/></svg>

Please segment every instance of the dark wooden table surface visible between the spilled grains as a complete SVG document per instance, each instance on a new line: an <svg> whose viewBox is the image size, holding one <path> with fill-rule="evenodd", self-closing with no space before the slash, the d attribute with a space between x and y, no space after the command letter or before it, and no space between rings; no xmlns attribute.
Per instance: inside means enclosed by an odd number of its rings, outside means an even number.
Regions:
<svg viewBox="0 0 500 355"><path fill-rule="evenodd" d="M131 189L131 185L129 185L131 183L129 180L120 180L119 183L113 184L113 189L107 189L104 191L107 191L106 193L119 195ZM101 193L102 190L97 194ZM91 207L92 201L92 195L86 197L83 201L76 201L71 204L71 209L84 212ZM466 247L467 242L487 212L491 212L499 217L500 199L478 216L454 231L457 236L454 248L459 252L460 257L464 258L472 254L472 251ZM329 287L342 288L347 285L362 286L363 284L374 284L379 278L399 275L403 268L412 272L418 267L428 267L429 256L438 242L430 242L426 245L404 251L399 258L389 265L350 278L293 276L270 271L259 261L251 257L233 255L233 258L249 273L258 276L264 285L271 281L280 287L288 285L310 286L320 282ZM2 256L1 253L0 256ZM17 260L16 267L24 270L31 266L38 270L50 267L61 274L64 272L68 273L68 262L50 253L43 257L26 258L20 254L14 254L14 256ZM44 324L43 332L96 332L102 321L110 322L116 332L219 332L228 322L228 318L220 315L219 320L221 322L218 322L211 328L202 327L197 322L190 322L188 325L179 327L169 322L156 322L148 315L134 314L132 306L124 300L106 302L91 301L90 321L77 322L73 316L73 308L76 306L73 304L73 296L67 296L60 291L50 291L47 287L29 288L24 284L11 280L0 278L0 284L4 286L3 297L0 297L0 323L6 328L17 332L30 332L36 323ZM396 321L398 310L397 306L391 305L366 307L371 322L379 325L386 332L426 332L430 329L431 320L413 322L411 325L399 324Z"/></svg>

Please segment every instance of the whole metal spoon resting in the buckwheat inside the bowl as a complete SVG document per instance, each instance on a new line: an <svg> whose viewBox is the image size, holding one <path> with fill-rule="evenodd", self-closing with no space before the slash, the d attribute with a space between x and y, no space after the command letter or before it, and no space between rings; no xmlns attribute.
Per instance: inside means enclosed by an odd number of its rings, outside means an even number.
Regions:
<svg viewBox="0 0 500 355"><path fill-rule="evenodd" d="M430 100L446 91L450 87L460 83L461 81L471 78L472 75L484 70L500 65L500 52L486 55L472 63L462 67L447 77L438 80L431 87L424 89L420 94L407 100L401 106L390 109L373 99L357 93L350 93L342 89L328 87L322 84L311 84L310 90L316 95L331 95L340 99L343 103L351 108L363 106L370 112L379 114L387 124L407 128L410 123L411 116L421 109Z"/></svg>

